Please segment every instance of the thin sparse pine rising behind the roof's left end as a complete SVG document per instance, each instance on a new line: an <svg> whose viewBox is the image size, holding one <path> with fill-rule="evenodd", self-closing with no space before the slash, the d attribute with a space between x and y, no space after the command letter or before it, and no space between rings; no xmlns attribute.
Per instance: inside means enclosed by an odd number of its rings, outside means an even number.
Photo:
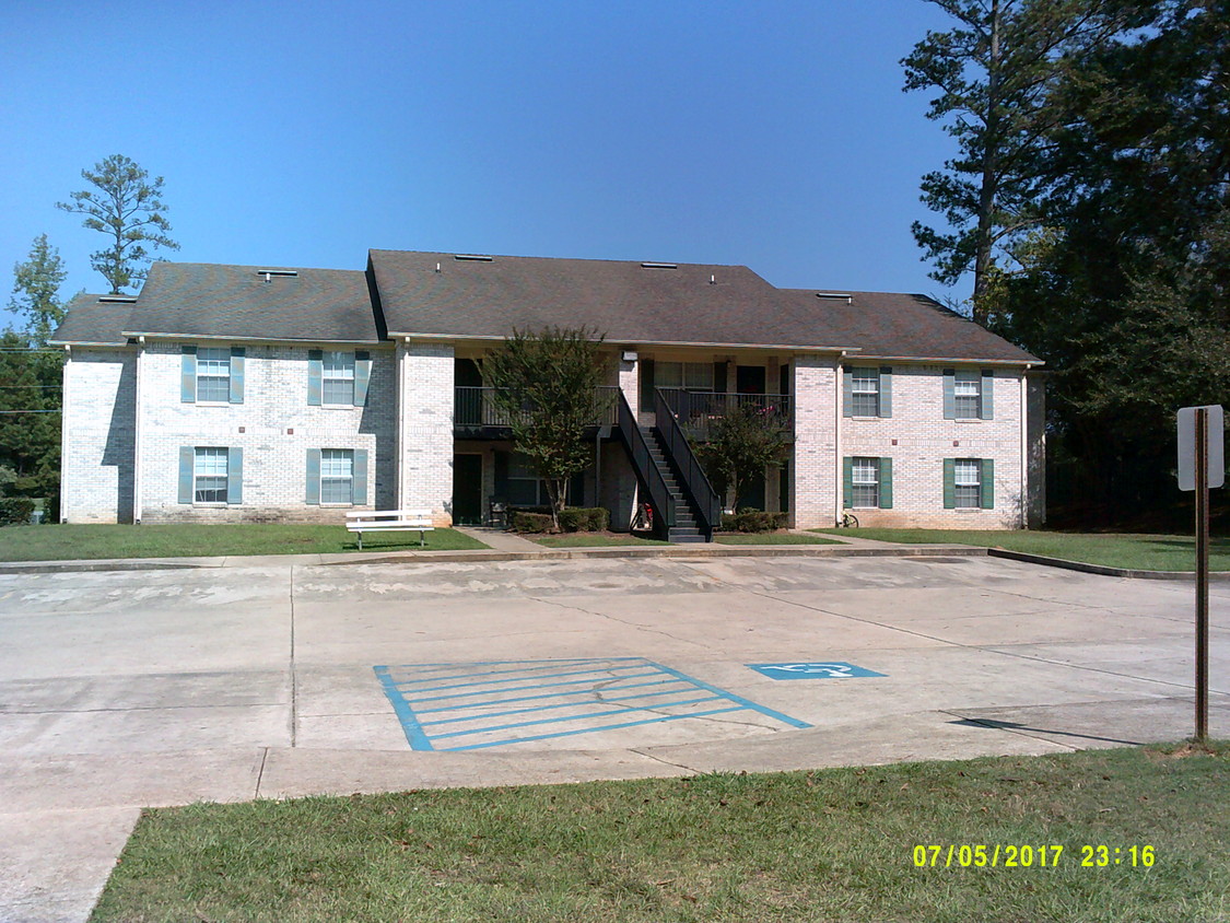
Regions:
<svg viewBox="0 0 1230 923"><path fill-rule="evenodd" d="M84 214L84 226L111 239L105 250L90 255L90 265L111 284L111 293L119 294L134 281L145 278L151 260L145 244L153 250L180 249L170 238L162 177L150 181L146 170L122 154L95 164L93 170L82 170L81 177L95 188L74 192L71 202L57 202L55 207Z"/></svg>

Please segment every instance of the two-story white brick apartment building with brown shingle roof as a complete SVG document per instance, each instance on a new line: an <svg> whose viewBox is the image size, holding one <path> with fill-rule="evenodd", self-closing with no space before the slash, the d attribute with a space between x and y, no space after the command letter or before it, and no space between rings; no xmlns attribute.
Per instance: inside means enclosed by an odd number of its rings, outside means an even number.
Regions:
<svg viewBox="0 0 1230 923"><path fill-rule="evenodd" d="M1039 361L921 295L780 289L743 266L373 250L365 271L155 263L79 295L65 522L482 522L545 502L482 383L514 330L603 335L604 411L569 502L679 539L722 506L689 446L727 409L785 423L742 503L796 527L1020 528L1043 511Z"/></svg>

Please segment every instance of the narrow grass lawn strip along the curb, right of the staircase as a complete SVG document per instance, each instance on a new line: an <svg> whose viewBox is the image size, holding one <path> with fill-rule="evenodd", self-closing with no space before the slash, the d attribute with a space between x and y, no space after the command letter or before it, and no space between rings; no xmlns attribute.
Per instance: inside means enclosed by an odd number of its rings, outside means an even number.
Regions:
<svg viewBox="0 0 1230 923"><path fill-rule="evenodd" d="M813 529L813 532L905 544L1006 548L1011 551L1141 571L1196 570L1196 539L1191 535L961 529ZM1209 569L1230 571L1230 537L1213 537L1209 541Z"/></svg>

